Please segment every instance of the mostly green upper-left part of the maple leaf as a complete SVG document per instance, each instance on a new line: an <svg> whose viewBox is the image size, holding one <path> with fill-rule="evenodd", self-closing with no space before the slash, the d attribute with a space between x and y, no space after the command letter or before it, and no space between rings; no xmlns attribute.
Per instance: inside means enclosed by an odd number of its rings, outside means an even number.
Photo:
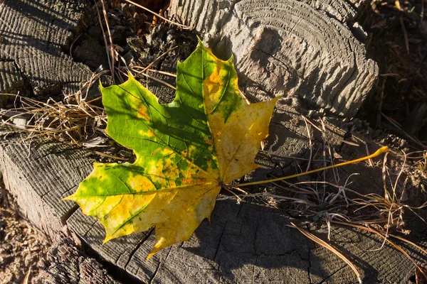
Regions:
<svg viewBox="0 0 427 284"><path fill-rule="evenodd" d="M194 83L197 79L186 74L180 77L184 78L181 82ZM175 156L175 161L184 160L183 166L186 161L201 170L218 168L209 143L212 136L203 99L189 96L186 93L189 87L181 87L181 82L177 94L184 89L184 95L166 105L159 104L157 97L132 77L120 86L102 88L102 103L108 115L107 133L117 143L134 150L138 165L152 167L173 151L183 153Z"/></svg>

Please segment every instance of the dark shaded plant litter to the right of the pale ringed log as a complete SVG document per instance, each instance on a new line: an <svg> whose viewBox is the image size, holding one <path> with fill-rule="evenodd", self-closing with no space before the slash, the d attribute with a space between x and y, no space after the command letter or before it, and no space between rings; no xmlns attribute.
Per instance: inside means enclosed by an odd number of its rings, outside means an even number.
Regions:
<svg viewBox="0 0 427 284"><path fill-rule="evenodd" d="M359 117L427 149L426 1L372 0L359 21L379 63L379 87Z"/></svg>

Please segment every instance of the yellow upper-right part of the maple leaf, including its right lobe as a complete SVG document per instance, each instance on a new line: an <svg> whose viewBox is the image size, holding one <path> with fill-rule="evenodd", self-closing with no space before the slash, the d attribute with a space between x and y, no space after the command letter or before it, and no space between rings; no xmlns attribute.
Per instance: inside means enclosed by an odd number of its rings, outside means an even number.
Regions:
<svg viewBox="0 0 427 284"><path fill-rule="evenodd" d="M215 58L211 50L206 48L206 52ZM228 183L258 168L254 158L261 141L268 136L268 124L279 97L247 104L238 93L233 58L215 60L214 72L204 81L204 104L214 136L220 178ZM232 98L231 102L225 102L228 97ZM224 111L227 108L228 111Z"/></svg>

